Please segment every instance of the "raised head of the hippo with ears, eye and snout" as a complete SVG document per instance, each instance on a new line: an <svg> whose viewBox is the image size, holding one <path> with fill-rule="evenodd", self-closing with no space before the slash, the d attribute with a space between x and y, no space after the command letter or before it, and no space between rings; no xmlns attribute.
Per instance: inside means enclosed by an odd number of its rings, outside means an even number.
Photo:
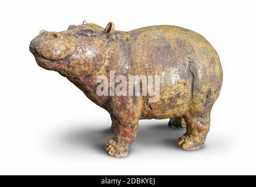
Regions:
<svg viewBox="0 0 256 187"><path fill-rule="evenodd" d="M103 29L84 21L83 25L70 25L64 32L42 30L31 41L29 50L46 70L58 71L65 77L86 77L102 67L113 33L112 22Z"/></svg>

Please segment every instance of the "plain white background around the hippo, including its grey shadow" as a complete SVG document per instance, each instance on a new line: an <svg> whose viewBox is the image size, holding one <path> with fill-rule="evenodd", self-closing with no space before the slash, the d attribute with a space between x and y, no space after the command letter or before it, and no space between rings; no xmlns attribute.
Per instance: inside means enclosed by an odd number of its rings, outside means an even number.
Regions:
<svg viewBox="0 0 256 187"><path fill-rule="evenodd" d="M256 174L255 1L1 1L0 174ZM126 158L104 145L109 114L57 72L40 68L29 43L41 29L86 19L116 30L176 25L202 34L218 51L223 88L206 144L176 146L184 129L142 120Z"/></svg>

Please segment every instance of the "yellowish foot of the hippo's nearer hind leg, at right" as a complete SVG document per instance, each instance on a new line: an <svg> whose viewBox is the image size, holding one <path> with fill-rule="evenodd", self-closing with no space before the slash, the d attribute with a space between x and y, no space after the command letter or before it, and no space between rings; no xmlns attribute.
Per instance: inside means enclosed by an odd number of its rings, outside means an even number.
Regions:
<svg viewBox="0 0 256 187"><path fill-rule="evenodd" d="M178 138L178 146L183 148L184 150L198 150L201 146L203 146L206 138L200 138L200 136L187 136L183 135Z"/></svg>

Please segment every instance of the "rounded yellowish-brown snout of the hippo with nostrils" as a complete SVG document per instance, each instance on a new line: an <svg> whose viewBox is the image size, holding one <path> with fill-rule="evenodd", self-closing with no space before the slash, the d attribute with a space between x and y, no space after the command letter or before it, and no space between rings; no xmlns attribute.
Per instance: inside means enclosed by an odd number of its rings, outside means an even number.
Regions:
<svg viewBox="0 0 256 187"><path fill-rule="evenodd" d="M41 30L31 41L29 50L34 56L59 61L75 51L75 39L63 33Z"/></svg>

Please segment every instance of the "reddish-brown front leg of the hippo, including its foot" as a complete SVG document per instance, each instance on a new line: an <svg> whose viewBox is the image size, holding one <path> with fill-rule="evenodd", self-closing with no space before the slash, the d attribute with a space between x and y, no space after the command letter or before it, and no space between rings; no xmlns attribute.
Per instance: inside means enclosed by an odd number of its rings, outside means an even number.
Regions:
<svg viewBox="0 0 256 187"><path fill-rule="evenodd" d="M139 96L116 97L111 102L114 136L106 144L106 151L114 157L126 157L136 139L142 99Z"/></svg>

